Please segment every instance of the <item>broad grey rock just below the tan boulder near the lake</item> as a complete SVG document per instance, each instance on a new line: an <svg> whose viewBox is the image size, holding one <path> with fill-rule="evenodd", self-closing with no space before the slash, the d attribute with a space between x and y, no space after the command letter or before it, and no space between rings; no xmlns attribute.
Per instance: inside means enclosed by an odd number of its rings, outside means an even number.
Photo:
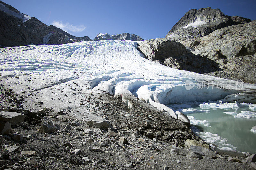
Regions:
<svg viewBox="0 0 256 170"><path fill-rule="evenodd" d="M200 146L190 146L187 152L187 158L201 157L216 159L216 154L213 151Z"/></svg>

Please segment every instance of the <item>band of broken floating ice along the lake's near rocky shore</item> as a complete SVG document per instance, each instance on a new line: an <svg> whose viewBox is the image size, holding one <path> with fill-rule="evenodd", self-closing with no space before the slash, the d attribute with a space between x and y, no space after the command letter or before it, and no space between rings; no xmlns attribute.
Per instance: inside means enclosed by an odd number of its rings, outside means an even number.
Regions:
<svg viewBox="0 0 256 170"><path fill-rule="evenodd" d="M236 152L237 148L232 144L228 144L226 138L218 136L218 134L213 134L211 132L194 132L196 135L204 139L208 144L214 144L220 148L220 150L233 151Z"/></svg>

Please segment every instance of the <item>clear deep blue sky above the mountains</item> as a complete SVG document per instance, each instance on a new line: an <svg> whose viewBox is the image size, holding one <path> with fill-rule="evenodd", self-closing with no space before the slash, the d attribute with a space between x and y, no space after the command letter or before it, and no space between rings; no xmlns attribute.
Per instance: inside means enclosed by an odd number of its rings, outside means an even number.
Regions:
<svg viewBox="0 0 256 170"><path fill-rule="evenodd" d="M219 8L225 15L256 19L256 0L2 0L47 25L74 36L134 33L143 39L165 37L190 9Z"/></svg>

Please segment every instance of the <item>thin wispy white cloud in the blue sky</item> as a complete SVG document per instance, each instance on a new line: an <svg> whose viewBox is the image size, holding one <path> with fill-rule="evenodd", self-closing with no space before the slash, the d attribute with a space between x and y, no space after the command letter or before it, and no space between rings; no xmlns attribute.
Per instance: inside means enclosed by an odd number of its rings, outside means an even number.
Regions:
<svg viewBox="0 0 256 170"><path fill-rule="evenodd" d="M85 30L86 26L80 25L80 26L73 26L72 24L69 24L68 22L63 23L62 21L53 21L52 25L66 31L66 32L82 32Z"/></svg>

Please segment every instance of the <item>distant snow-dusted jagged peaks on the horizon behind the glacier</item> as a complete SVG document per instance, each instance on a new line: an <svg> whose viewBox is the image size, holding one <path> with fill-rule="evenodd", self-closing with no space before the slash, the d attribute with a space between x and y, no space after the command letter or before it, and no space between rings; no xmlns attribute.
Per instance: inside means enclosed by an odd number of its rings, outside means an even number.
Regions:
<svg viewBox="0 0 256 170"><path fill-rule="evenodd" d="M132 41L143 41L144 39L135 34L122 33L110 36L108 33L100 33L94 40L132 40Z"/></svg>

